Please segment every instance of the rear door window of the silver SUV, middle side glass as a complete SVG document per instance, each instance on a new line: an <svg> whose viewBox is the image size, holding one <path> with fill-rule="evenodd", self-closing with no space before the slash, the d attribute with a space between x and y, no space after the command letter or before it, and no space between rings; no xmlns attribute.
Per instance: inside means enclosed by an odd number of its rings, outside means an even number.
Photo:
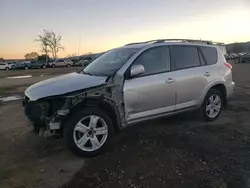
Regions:
<svg viewBox="0 0 250 188"><path fill-rule="evenodd" d="M198 49L193 46L172 46L175 70L200 66Z"/></svg>

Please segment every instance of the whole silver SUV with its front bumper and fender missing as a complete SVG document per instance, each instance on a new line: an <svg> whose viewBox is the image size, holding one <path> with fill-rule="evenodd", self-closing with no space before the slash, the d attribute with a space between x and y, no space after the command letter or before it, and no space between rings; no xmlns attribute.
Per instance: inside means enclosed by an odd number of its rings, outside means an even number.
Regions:
<svg viewBox="0 0 250 188"><path fill-rule="evenodd" d="M214 121L234 88L232 66L212 42L154 40L110 50L83 71L25 91L34 132L62 136L80 156L95 156L131 124L200 109Z"/></svg>

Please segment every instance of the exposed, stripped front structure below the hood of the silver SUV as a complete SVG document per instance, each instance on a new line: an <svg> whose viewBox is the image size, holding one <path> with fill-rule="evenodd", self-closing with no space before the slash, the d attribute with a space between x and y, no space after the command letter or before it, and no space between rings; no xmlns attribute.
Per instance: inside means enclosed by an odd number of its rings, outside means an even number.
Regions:
<svg viewBox="0 0 250 188"><path fill-rule="evenodd" d="M61 137L67 117L74 110L78 110L78 108L83 109L84 106L102 106L101 108L107 108L107 113L112 113L111 116L115 116L117 127L119 129L122 128L123 126L120 122L125 124L123 103L115 102L117 95L114 93L113 85L105 84L97 88L78 92L77 94L52 96L37 101L30 101L26 96L23 105L25 114L30 120L35 133L44 137Z"/></svg>

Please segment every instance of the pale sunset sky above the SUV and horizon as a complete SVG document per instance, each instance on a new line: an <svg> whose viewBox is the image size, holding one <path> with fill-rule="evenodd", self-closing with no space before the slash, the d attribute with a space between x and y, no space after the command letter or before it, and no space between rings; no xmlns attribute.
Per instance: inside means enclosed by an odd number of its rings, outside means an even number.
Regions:
<svg viewBox="0 0 250 188"><path fill-rule="evenodd" d="M42 54L43 29L65 57L161 38L250 41L249 23L250 0L0 0L0 57Z"/></svg>

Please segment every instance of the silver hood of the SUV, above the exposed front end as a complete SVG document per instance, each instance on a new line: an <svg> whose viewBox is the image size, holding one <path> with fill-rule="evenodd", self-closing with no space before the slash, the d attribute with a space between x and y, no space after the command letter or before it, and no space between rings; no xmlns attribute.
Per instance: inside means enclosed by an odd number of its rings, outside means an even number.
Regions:
<svg viewBox="0 0 250 188"><path fill-rule="evenodd" d="M82 73L70 73L38 82L25 90L31 101L44 97L63 95L105 84L107 76L92 76Z"/></svg>

